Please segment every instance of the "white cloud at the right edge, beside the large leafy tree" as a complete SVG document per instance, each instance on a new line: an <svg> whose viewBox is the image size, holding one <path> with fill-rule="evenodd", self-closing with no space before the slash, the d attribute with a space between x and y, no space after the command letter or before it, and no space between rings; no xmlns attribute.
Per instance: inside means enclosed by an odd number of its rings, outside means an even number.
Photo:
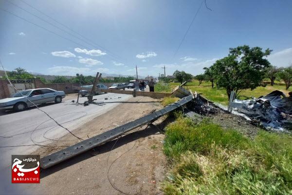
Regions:
<svg viewBox="0 0 292 195"><path fill-rule="evenodd" d="M272 53L267 59L274 66L289 66L292 64L292 48L287 48L274 54Z"/></svg>

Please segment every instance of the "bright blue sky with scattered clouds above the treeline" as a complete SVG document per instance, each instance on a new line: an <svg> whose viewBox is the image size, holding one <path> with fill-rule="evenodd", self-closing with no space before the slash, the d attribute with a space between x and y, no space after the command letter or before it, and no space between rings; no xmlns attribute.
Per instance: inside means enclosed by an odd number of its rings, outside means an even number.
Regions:
<svg viewBox="0 0 292 195"><path fill-rule="evenodd" d="M292 63L291 0L207 0L212 11L202 4L176 55L201 0L24 0L87 43L23 1L9 1L75 37L0 0L1 9L66 38L0 9L0 59L7 70L134 75L137 65L139 75L156 77L165 65L166 75L176 69L196 75L243 44L273 49L268 59L276 66Z"/></svg>

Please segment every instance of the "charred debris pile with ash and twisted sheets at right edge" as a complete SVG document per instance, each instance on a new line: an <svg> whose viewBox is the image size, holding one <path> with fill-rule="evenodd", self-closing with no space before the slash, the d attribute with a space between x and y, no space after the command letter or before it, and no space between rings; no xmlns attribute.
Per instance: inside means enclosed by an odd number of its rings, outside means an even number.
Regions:
<svg viewBox="0 0 292 195"><path fill-rule="evenodd" d="M281 91L276 90L259 98L235 99L230 106L268 130L292 129L292 98Z"/></svg>

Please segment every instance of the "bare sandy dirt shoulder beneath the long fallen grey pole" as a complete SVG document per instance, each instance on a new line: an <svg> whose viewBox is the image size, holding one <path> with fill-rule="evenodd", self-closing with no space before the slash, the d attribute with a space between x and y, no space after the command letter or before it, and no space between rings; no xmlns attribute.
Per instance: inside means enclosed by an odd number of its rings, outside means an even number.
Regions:
<svg viewBox="0 0 292 195"><path fill-rule="evenodd" d="M82 138L93 137L162 108L159 101L160 99L148 97L130 98L127 102L85 123L73 133ZM105 103L110 103L110 100ZM155 123L162 121L163 118ZM164 128L162 124L159 126ZM119 191L131 195L157 194L160 192L159 182L164 179L166 166L162 151L163 139L164 135L159 128L142 126L136 129L136 132L117 141L112 140L43 170L40 184L28 186L29 191L58 195L122 194ZM77 142L76 138L67 134L47 147L40 148L36 153L45 156Z"/></svg>

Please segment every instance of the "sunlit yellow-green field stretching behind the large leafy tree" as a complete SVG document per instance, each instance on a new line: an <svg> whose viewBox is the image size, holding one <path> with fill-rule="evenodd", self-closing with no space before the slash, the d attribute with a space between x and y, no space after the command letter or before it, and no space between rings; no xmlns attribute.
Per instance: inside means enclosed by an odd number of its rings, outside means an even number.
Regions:
<svg viewBox="0 0 292 195"><path fill-rule="evenodd" d="M176 86L180 85L180 83L162 83L159 82L155 85L156 92L171 92ZM212 89L211 82L202 82L199 86L199 81L194 80L193 82L188 82L185 86L186 88L191 89L193 92L197 92L202 94L205 98L208 98L211 101L227 105L228 104L228 96L226 94L226 90L224 88L216 88L216 86ZM288 95L289 91L285 90L285 85L283 83L279 84L276 82L274 86L267 85L266 87L257 87L254 90L242 90L239 95L244 95L247 97L256 97L266 95L274 90L280 90ZM290 91L292 89L289 89Z"/></svg>

